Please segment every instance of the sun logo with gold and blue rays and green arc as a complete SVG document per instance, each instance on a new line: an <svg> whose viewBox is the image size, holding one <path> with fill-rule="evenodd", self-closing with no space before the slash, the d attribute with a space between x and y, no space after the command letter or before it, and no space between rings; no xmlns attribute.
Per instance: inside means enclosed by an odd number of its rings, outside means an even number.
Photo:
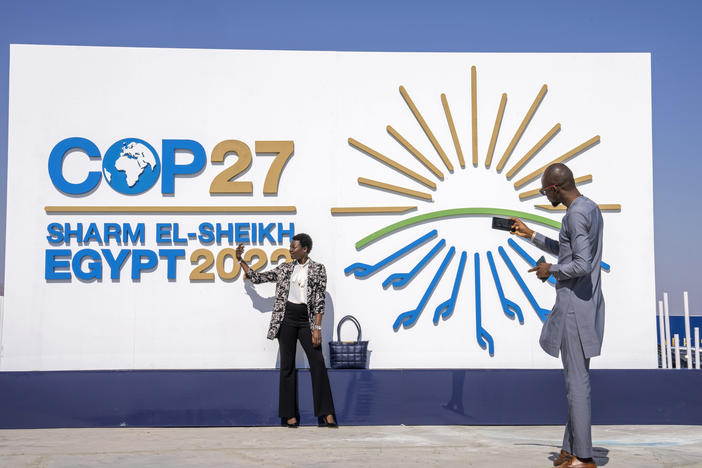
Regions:
<svg viewBox="0 0 702 468"><path fill-rule="evenodd" d="M478 154L478 110L477 110L477 72L476 67L471 67L470 72L470 120L471 120L471 156L472 165L474 168L478 168L480 165L479 154ZM544 84L538 91L536 97L534 98L531 106L524 114L521 123L514 132L513 136L509 140L506 149L502 153L499 161L495 165L495 172L497 174L502 174L503 170L506 169L510 158L514 155L515 150L518 146L519 141L522 138L525 130L532 121L535 113L539 109L539 106L547 93L548 87ZM448 156L447 152L444 150L444 146L439 142L431 127L423 117L419 108L412 100L409 92L404 86L399 86L400 95L402 96L407 107L413 114L414 118L419 123L424 135L428 138L431 146L433 147L436 155L438 155L438 160L432 155L428 157L426 151L423 153L415 145L413 145L410 140L400 134L395 128L388 125L386 130L388 134L399 144L404 150L409 152L421 165L426 169L425 175L419 174L412 169L400 164L399 162L391 159L390 157L380 153L379 151L363 144L362 142L356 140L355 138L349 138L348 143L351 147L357 149L360 153L370 156L377 160L378 162L384 164L397 171L398 173L409 179L413 186L400 186L395 184L390 184L387 182L370 179L367 177L358 177L358 183L364 188L371 190L382 190L385 193L391 193L403 199L419 200L423 202L424 206L421 205L398 205L398 206L364 206L364 207L334 207L331 208L332 215L354 215L354 216L377 216L378 214L391 214L402 216L403 219L392 223L390 225L384 226L377 229L370 234L365 235L360 240L355 243L355 247L358 251L363 250L367 245L373 242L386 242L392 238L392 235L398 233L401 230L405 230L411 227L420 227L427 223L433 223L441 220L446 220L450 218L460 218L460 217L517 217L532 223L536 223L542 226L547 226L554 230L559 230L561 223L554 219L551 219L544 214L550 214L553 216L557 212L562 212L565 207L559 206L554 208L550 204L534 204L528 209L530 211L506 209L499 207L463 207L463 208L451 208L438 211L431 211L430 205L434 201L434 196L432 193L428 192L427 189L432 191L437 189L437 183L444 182L446 175L444 174L445 169L453 174L460 175L461 171L457 171L454 167L454 162ZM453 149L455 150L455 155L457 158L458 165L460 169L466 169L466 161L463 154L463 149L459 139L459 134L456 131L456 126L454 124L454 119L449 107L448 99L445 94L441 94L441 104L443 107L444 115L446 118L446 125L450 131L451 140L453 143ZM484 158L484 169L490 170L493 157L495 156L495 149L498 144L502 120L505 113L505 108L507 105L507 94L503 93L497 107L497 115L494 119L494 124L492 126L492 133L490 138L490 143L488 145L487 154ZM546 134L539 139L536 144L534 144L524 155L514 162L509 169L506 169L504 173L505 178L513 184L514 191L517 194L518 201L520 203L529 203L532 199L539 196L539 188L525 189L527 185L539 183L540 176L543 174L545 169L554 163L563 163L569 161L577 156L583 155L590 148L600 143L600 136L595 135L588 140L581 142L564 154L556 157L555 159L549 161L548 163L533 169L526 175L521 176L514 182L518 174L523 170L526 170L532 158L540 153L546 146L551 142L554 137L560 132L561 124L556 123ZM448 147L448 146L447 146ZM432 162L432 158L435 161ZM521 175L521 174L520 174ZM575 178L576 185L582 185L585 183L592 182L593 176L591 174L584 174L582 176ZM421 187L420 187L421 186ZM601 204L599 205L602 211L619 212L621 211L621 205L619 204ZM428 208L428 209L427 209ZM411 215L413 211L420 211L420 214ZM539 213L541 211L541 213ZM549 233L550 237L555 237L553 232ZM409 311L399 310L397 311L397 316L392 324L393 329L397 332L401 328L407 329L412 327L417 320L420 318L422 312L427 307L427 304L434 293L437 285L444 277L444 273L449 268L454 258L458 258L458 266L456 269L456 274L453 277L453 286L451 289L450 296L438 306L435 307L433 313L433 322L438 325L441 320L448 320L456 308L456 302L460 293L461 283L466 272L466 264L468 263L468 252L462 250L460 255L458 255L458 249L450 245L446 253L441 256L441 252L446 246L447 241L445 238L440 238L438 229L426 229L423 235L417 237L412 242L403 245L399 249L396 246L393 247L392 253L389 255L371 260L368 263L355 262L348 265L344 269L344 273L348 277L355 277L356 279L366 279L369 278L386 267L389 267L394 262L403 257L409 257L412 254L418 254L418 260L413 268L406 272L396 272L387 276L383 282L382 287L388 289L392 287L395 290L399 290L407 286L421 270L427 267L435 259L438 265L436 266L435 273L430 280L429 284L426 286L421 299L419 300L417 306ZM505 248L507 247L507 248ZM526 247L526 248L525 248ZM422 252L424 248L425 252ZM429 249L426 251L426 249ZM522 308L514 301L507 297L504 288L504 282L508 279L503 274L500 277L496 263L501 261L506 269L510 272L512 280L516 282L521 289L525 299L535 312L536 317L543 322L548 317L550 309L543 307L533 294L532 290L528 287L527 282L524 280L524 274L520 273L522 268L518 268L515 263L515 257L521 259L529 267L536 265L536 260L534 257L528 253L527 249L535 249L533 246L528 246L528 243L522 242L522 239L515 240L514 238L507 238L505 246L496 246L497 254L493 255L492 250L487 250L485 252L485 259L487 259L487 265L490 270L490 277L492 278L492 283L494 284L495 291L499 297L499 304L501 305L502 312L510 319L518 320L520 325L524 324L525 312ZM521 267L521 265L520 265ZM610 270L609 265L602 262L602 268L606 271ZM494 356L495 353L495 339L483 326L482 320L482 300L481 300L481 253L473 252L473 273L475 281L475 337L477 344L486 349L490 356ZM503 270L504 271L504 270ZM553 287L556 281L553 277L548 279L548 282L544 283L543 287Z"/></svg>

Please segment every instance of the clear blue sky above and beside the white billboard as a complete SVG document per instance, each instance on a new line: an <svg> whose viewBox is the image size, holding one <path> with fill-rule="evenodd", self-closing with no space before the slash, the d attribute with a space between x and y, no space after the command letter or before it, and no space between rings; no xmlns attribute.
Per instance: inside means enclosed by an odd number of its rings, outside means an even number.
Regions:
<svg viewBox="0 0 702 468"><path fill-rule="evenodd" d="M0 2L0 282L9 44L450 52L650 52L655 260L671 310L702 315L700 1ZM621 184L634 183L621 174ZM695 214L697 213L697 214ZM631 235L638 234L631 226ZM642 252L642 254L645 254Z"/></svg>

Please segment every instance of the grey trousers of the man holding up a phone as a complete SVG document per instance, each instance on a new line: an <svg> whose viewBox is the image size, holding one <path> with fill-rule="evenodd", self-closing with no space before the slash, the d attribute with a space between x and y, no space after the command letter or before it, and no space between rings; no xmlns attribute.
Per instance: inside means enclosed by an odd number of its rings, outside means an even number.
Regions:
<svg viewBox="0 0 702 468"><path fill-rule="evenodd" d="M568 422L563 436L563 450L578 458L590 458L590 359L585 358L573 312L566 313L561 360L568 396Z"/></svg>

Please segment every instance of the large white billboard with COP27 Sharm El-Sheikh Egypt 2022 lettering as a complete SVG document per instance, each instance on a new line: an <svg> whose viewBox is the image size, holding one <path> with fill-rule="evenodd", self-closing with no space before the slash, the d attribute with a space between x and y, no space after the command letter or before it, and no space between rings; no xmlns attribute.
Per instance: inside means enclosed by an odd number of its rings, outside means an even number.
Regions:
<svg viewBox="0 0 702 468"><path fill-rule="evenodd" d="M232 249L300 232L371 368L558 368L542 252L491 229L557 237L554 160L603 209L592 365L655 367L650 96L648 54L13 45L0 370L275 367Z"/></svg>

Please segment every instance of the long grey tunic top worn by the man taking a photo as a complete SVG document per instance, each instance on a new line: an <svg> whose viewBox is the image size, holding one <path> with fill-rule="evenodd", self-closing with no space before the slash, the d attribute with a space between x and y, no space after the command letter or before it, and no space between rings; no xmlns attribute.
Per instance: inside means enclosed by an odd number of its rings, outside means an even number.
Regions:
<svg viewBox="0 0 702 468"><path fill-rule="evenodd" d="M556 304L541 330L539 343L558 357L566 314L575 314L586 358L599 356L604 335L604 298L600 289L602 213L589 198L576 198L566 211L558 242L536 233L534 245L558 255L551 266Z"/></svg>

